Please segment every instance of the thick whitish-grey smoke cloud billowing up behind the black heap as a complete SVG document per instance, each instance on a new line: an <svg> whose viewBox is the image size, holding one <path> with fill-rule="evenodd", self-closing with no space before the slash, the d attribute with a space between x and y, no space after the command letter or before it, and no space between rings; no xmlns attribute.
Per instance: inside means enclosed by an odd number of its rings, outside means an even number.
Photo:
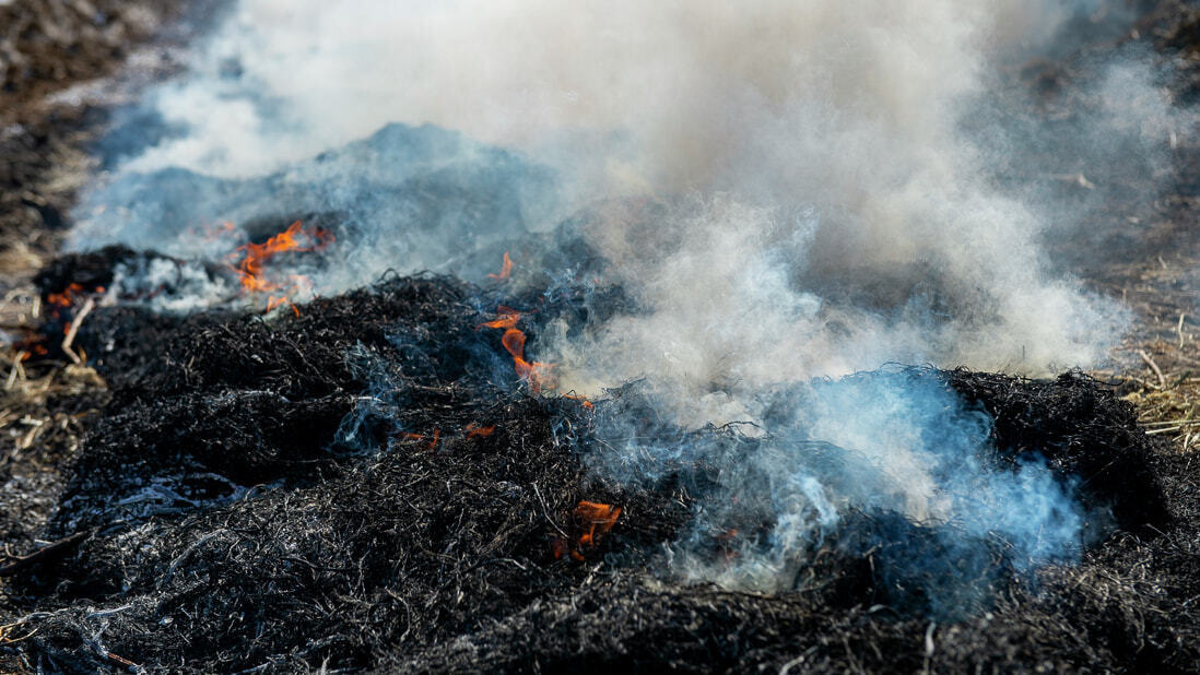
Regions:
<svg viewBox="0 0 1200 675"><path fill-rule="evenodd" d="M1010 162L1031 134L1013 131L1009 156L996 157L961 121L986 100L992 66L1097 6L245 0L193 72L152 92L163 137L116 163L91 206L164 169L257 176L388 122L430 122L557 173L553 189L522 195L518 229L547 230L602 200L667 205L654 222L593 219L583 233L649 312L587 344L556 345L581 390L641 374L692 388L713 379L760 386L887 360L1090 366L1120 336L1123 311L1045 259L1052 204L990 180L989 168ZM1088 140L1105 139L1086 144L1093 152L1165 145L1177 113L1151 79L1136 60L1114 70L1111 109L1088 121ZM462 147L475 152L466 139ZM451 149L433 165L460 158ZM414 173L404 159L394 167ZM328 201L353 210L354 185L338 193ZM188 198L191 212L229 212ZM361 210L382 235L364 251L409 239L395 210ZM140 246L148 230L169 241L173 227L169 211L122 221L85 210L83 219L79 246ZM460 231L443 229L445 247L457 246ZM427 242L404 255L392 248L391 260L355 265L328 290L448 259L421 255Z"/></svg>

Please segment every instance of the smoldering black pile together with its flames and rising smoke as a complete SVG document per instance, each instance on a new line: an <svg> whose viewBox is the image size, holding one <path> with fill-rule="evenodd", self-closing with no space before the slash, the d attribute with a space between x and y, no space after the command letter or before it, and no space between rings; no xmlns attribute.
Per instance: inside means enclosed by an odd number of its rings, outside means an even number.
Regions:
<svg viewBox="0 0 1200 675"><path fill-rule="evenodd" d="M109 388L42 490L48 546L10 528L6 665L1194 667L1200 507L1127 403L1074 372L848 374L1103 357L1126 312L1042 247L1088 218L1007 173L1013 144L1079 186L1084 157L1164 167L1194 117L1153 59L1084 77L1066 139L1012 126L990 65L1072 22L986 2L365 2L365 44L341 7L238 7L116 115L83 253L37 277L13 372ZM330 109L396 43L403 95Z"/></svg>

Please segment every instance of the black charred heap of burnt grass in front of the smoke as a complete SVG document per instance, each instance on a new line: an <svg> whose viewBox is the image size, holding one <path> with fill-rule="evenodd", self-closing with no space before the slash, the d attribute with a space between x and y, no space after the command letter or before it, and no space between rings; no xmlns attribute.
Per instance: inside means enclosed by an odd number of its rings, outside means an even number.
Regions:
<svg viewBox="0 0 1200 675"><path fill-rule="evenodd" d="M58 270L47 296L72 283ZM1200 659L1186 462L1086 376L860 375L953 392L994 420L995 471L1036 451L1078 486L1088 526L1075 559L1026 569L1001 536L959 556L943 550L953 523L864 510L797 552L788 587L730 590L665 560L721 468L684 454L640 483L590 469L605 420L636 394L534 391L515 349L524 333L517 345L488 327L512 330L496 308L522 301L534 299L426 276L269 315L95 307L74 344L112 396L42 532L56 543L4 568L4 663L1184 671ZM535 321L523 327L535 337ZM767 442L688 433L739 453ZM720 542L718 565L738 554ZM935 575L970 578L970 607L936 607Z"/></svg>

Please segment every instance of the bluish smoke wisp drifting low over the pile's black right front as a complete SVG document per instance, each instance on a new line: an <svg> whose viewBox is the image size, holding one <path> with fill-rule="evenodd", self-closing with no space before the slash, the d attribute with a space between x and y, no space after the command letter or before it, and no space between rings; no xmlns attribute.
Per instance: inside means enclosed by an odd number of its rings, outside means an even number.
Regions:
<svg viewBox="0 0 1200 675"><path fill-rule="evenodd" d="M599 474L628 484L674 476L706 494L667 549L684 578L786 591L806 583L820 550L840 548L878 556L898 604L917 595L934 614L961 616L985 604L997 556L1025 572L1084 543L1076 481L1055 476L1038 448L1012 470L994 466L991 418L935 373L890 368L760 398L770 412L752 429L647 434L630 423L629 391L601 412L606 442L588 454Z"/></svg>

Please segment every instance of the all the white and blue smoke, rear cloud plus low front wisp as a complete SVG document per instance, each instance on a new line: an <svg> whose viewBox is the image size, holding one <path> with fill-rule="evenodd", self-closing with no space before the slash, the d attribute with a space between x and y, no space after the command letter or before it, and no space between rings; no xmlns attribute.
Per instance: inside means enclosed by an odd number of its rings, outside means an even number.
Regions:
<svg viewBox="0 0 1200 675"><path fill-rule="evenodd" d="M157 120L155 141L112 144L73 245L200 255L197 227L260 236L302 216L341 228L312 271L334 293L386 269L480 278L558 228L632 301L530 342L563 391L642 380L673 424L775 439L721 456L775 477L732 471L709 495L778 501L769 546L720 572L684 547L689 574L778 587L847 508L955 522L962 541L1001 531L1051 559L1078 540L1069 487L972 459L985 423L953 397L816 387L767 424L763 392L888 361L1105 361L1128 313L1049 255L1080 225L1060 177L1103 191L1088 177L1115 185L1120 165L1153 192L1193 116L1145 55L1118 54L1080 85L1090 112L1049 122L1013 114L1030 102L1001 72L1102 13L1120 23L1099 1L241 0L190 73L130 113ZM1085 177L1093 164L1106 174ZM816 441L836 470L814 464ZM622 462L598 471L634 480Z"/></svg>

